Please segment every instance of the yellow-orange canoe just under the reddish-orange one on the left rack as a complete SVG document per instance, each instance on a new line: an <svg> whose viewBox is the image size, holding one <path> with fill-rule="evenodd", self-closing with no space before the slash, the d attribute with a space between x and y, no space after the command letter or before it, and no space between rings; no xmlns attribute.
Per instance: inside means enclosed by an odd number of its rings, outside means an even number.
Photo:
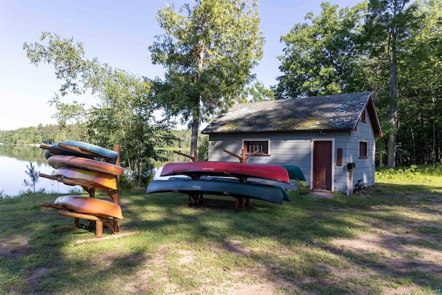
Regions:
<svg viewBox="0 0 442 295"><path fill-rule="evenodd" d="M108 189L117 189L117 178L113 175L102 172L74 167L63 167L52 171L52 175L69 178L71 180L80 180L92 184L98 184L99 186L106 187Z"/></svg>

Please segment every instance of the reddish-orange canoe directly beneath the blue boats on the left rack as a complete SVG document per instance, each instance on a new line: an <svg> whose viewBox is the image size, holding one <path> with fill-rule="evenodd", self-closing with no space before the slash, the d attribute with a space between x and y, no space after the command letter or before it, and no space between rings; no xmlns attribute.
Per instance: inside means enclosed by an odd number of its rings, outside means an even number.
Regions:
<svg viewBox="0 0 442 295"><path fill-rule="evenodd" d="M75 167L111 175L122 175L124 173L124 169L121 166L108 162L79 158L73 155L52 155L52 157L48 158L48 164L56 169Z"/></svg>

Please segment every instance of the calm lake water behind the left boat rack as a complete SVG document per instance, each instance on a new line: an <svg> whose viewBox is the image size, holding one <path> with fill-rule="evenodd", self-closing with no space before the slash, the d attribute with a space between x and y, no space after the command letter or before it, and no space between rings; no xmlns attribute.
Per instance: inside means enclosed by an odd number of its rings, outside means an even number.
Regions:
<svg viewBox="0 0 442 295"><path fill-rule="evenodd" d="M23 183L26 179L30 181L26 174L29 163L35 166L35 170L40 173L49 174L54 170L48 165L44 158L44 150L38 146L13 146L0 144L0 196L17 196L27 191L29 188ZM35 191L44 189L46 193L69 193L73 189L82 191L81 187L68 186L66 184L39 178Z"/></svg>

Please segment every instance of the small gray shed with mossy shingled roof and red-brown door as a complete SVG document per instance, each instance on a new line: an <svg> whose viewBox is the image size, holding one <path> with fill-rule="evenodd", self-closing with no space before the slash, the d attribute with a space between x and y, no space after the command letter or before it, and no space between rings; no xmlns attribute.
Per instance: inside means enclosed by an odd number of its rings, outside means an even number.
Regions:
<svg viewBox="0 0 442 295"><path fill-rule="evenodd" d="M299 166L318 191L351 193L374 184L375 137L382 136L372 93L236 104L207 126L209 161ZM353 165L353 169L352 168Z"/></svg>

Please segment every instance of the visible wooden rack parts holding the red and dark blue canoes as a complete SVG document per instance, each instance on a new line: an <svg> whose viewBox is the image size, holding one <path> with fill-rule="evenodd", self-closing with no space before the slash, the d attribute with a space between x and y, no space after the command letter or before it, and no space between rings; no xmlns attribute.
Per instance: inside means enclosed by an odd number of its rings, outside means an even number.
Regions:
<svg viewBox="0 0 442 295"><path fill-rule="evenodd" d="M240 160L240 163L245 164L247 162L247 160L249 160L250 157L252 157L253 155L256 155L258 153L260 153L260 151L254 151L253 153L249 153L249 155L245 154L244 149L241 150L241 155L237 155L236 153L233 153L227 149L223 149L222 151L224 151L225 153L228 153L229 155L233 155L233 157L238 158L238 160ZM177 153L178 155L182 155L186 158L189 158L192 160L192 162L197 162L198 161L198 150L195 149L193 155L187 155L185 153L181 153L180 151L173 151L173 153ZM240 178L240 182L246 182L247 178ZM228 202L228 203L235 203L235 211L240 211L241 209L247 209L249 208L250 205L250 200L249 198L236 198L235 201L229 201L229 200L220 200L220 199L213 199L213 198L204 198L202 193L198 193L198 194L193 194L193 195L187 195L187 205L191 206L191 205L196 205L196 204L201 204L202 202L204 202L204 200L210 200L212 202Z"/></svg>

